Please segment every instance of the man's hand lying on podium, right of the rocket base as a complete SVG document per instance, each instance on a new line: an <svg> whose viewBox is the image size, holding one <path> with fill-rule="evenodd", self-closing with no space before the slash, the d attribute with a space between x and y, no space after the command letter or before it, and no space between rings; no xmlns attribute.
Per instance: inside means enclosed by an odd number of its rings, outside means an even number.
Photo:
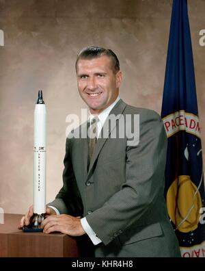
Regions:
<svg viewBox="0 0 205 271"><path fill-rule="evenodd" d="M49 216L42 222L42 228L44 228L44 233L59 231L71 236L81 236L85 234L81 225L81 219L66 214Z"/></svg>

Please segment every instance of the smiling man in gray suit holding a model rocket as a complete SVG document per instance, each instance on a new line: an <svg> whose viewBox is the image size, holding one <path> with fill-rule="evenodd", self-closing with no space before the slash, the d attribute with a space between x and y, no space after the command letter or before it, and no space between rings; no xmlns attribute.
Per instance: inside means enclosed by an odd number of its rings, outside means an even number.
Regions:
<svg viewBox="0 0 205 271"><path fill-rule="evenodd" d="M113 51L83 49L76 72L91 116L80 138L66 140L64 185L46 208L51 216L42 222L44 233L87 236L96 257L179 257L163 195L167 139L161 118L119 98L122 72ZM112 125L109 116L115 116ZM139 116L139 127L133 116ZM94 137L83 138L87 127ZM132 142L135 133L139 140ZM30 207L21 227L32 214Z"/></svg>

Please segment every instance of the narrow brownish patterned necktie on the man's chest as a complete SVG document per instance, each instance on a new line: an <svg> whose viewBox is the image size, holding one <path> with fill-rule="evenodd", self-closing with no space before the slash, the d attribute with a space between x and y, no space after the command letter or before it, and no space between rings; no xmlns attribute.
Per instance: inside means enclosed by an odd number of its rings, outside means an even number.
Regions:
<svg viewBox="0 0 205 271"><path fill-rule="evenodd" d="M90 125L90 140L89 140L89 165L92 159L92 155L94 154L94 150L96 147L96 141L97 141L97 136L98 136L98 131L97 131L97 123L99 121L98 117L95 117L92 119L91 125Z"/></svg>

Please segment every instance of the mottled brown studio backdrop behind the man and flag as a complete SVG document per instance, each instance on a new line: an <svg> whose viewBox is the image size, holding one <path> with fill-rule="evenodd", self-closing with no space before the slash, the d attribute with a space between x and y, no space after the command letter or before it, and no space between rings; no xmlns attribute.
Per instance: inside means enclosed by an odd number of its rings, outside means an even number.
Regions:
<svg viewBox="0 0 205 271"><path fill-rule="evenodd" d="M205 1L189 0L198 109L205 153ZM0 0L0 207L23 214L33 201L33 110L47 109L47 202L61 188L66 116L81 116L74 70L83 47L112 49L123 72L120 97L161 113L171 0ZM205 156L204 156L205 162Z"/></svg>

